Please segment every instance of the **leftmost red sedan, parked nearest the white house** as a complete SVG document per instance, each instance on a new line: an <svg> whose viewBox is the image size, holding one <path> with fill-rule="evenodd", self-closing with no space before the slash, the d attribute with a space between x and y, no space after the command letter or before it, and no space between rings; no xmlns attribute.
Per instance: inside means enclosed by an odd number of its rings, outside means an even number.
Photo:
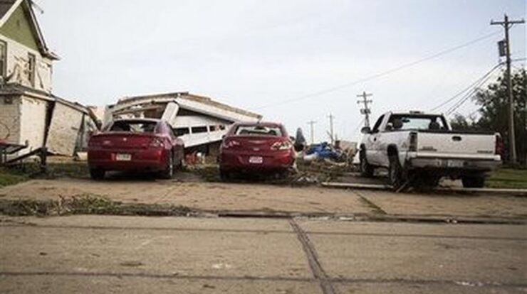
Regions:
<svg viewBox="0 0 527 294"><path fill-rule="evenodd" d="M159 172L172 178L183 163L183 141L160 119L119 119L88 142L91 178L100 180L109 170Z"/></svg>

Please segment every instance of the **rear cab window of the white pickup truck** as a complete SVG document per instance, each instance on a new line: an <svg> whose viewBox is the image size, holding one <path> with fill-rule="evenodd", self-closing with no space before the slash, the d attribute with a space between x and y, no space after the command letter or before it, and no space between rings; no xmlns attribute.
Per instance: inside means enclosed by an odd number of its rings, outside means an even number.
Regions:
<svg viewBox="0 0 527 294"><path fill-rule="evenodd" d="M441 116L392 115L387 130L446 130L447 125Z"/></svg>

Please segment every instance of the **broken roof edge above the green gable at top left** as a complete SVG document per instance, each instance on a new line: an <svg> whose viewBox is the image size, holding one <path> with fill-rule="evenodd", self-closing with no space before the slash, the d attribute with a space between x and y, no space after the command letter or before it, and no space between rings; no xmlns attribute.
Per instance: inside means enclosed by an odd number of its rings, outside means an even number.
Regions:
<svg viewBox="0 0 527 294"><path fill-rule="evenodd" d="M11 14L13 14L19 6L22 6L31 25L31 32L35 37L41 54L52 60L58 60L58 55L51 52L44 41L44 36L40 26L38 26L38 21L36 20L32 5L33 2L31 0L0 0L0 27L4 26L4 23L6 23L9 17L11 17Z"/></svg>

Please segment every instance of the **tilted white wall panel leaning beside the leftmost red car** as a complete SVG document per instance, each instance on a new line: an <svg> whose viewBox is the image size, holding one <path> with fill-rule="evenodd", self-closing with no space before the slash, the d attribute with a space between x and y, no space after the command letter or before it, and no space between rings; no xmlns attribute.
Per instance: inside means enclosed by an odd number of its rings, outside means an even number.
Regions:
<svg viewBox="0 0 527 294"><path fill-rule="evenodd" d="M48 130L48 151L73 156L84 113L56 102Z"/></svg>

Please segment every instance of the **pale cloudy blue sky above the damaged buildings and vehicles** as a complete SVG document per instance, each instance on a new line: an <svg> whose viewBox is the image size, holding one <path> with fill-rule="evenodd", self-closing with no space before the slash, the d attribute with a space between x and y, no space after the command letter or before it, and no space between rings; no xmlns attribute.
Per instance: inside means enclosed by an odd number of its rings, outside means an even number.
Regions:
<svg viewBox="0 0 527 294"><path fill-rule="evenodd" d="M282 121L293 132L327 115L340 138L357 139L356 94L373 93L372 116L429 110L498 61L503 13L525 18L525 0L53 0L37 2L55 63L54 92L84 104L134 94L189 91ZM390 75L308 99L497 34ZM526 26L511 29L513 58L526 57ZM516 62L525 67L525 61ZM446 110L448 105L444 107ZM458 109L474 110L471 103Z"/></svg>

